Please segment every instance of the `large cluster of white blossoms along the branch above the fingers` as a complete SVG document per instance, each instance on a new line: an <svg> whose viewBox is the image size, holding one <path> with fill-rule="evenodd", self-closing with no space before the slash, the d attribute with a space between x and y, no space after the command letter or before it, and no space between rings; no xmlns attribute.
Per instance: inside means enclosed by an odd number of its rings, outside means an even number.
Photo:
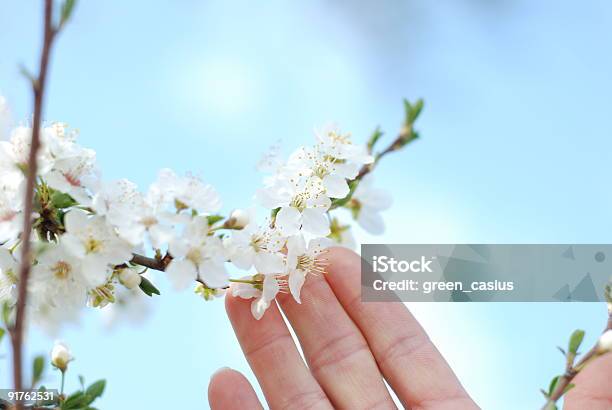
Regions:
<svg viewBox="0 0 612 410"><path fill-rule="evenodd" d="M333 210L348 209L380 233L380 211L390 206L371 174L360 174L375 160L371 147L335 127L285 161L277 152L266 158L271 173L255 198L269 216L258 222L255 208L222 216L211 185L170 169L146 192L126 179L103 181L77 131L52 123L41 130L34 214L24 215L31 135L18 126L0 141L0 303L16 303L21 230L31 217L28 317L43 325L76 317L84 306L112 305L125 289L159 293L143 275L148 268L165 271L177 290L195 286L205 299L227 289L253 299L259 319L279 292L300 302L308 276L325 272L327 247L353 243ZM245 273L231 278L237 270Z"/></svg>

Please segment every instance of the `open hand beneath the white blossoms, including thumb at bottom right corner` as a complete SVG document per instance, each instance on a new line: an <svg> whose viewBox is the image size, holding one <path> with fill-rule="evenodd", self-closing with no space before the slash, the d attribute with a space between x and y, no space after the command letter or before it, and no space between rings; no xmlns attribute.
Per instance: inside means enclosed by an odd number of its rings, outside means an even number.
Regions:
<svg viewBox="0 0 612 410"><path fill-rule="evenodd" d="M333 248L326 258L327 274L308 278L301 304L282 295L260 321L253 319L250 301L226 298L227 314L270 408L395 409L383 380L406 408L479 408L403 304L361 302L357 254ZM565 408L612 408L610 369L611 354L588 366L575 379ZM263 408L247 379L228 368L213 375L208 398L213 410Z"/></svg>

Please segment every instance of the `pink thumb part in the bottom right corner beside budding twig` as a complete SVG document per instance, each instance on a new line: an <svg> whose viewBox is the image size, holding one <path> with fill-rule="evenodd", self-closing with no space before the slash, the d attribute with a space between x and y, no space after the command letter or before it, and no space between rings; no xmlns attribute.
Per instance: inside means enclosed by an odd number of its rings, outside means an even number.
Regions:
<svg viewBox="0 0 612 410"><path fill-rule="evenodd" d="M612 408L612 353L595 359L572 381L576 387L565 397L567 410Z"/></svg>

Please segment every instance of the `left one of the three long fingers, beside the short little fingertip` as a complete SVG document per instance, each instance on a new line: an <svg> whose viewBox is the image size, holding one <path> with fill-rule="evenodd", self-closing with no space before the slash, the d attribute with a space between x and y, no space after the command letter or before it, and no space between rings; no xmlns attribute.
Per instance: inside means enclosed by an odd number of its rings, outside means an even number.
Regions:
<svg viewBox="0 0 612 410"><path fill-rule="evenodd" d="M331 408L304 364L276 304L260 320L253 318L249 300L228 295L225 308L271 408Z"/></svg>

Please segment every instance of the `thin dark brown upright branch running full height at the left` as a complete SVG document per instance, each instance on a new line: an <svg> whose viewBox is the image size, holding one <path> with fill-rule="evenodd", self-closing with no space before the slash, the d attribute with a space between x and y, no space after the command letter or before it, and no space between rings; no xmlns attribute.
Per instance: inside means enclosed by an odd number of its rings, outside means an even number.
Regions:
<svg viewBox="0 0 612 410"><path fill-rule="evenodd" d="M23 360L22 344L23 332L25 327L25 309L28 289L28 279L30 276L31 260L31 234L32 234L32 208L34 202L34 187L36 184L36 173L38 168L37 155L40 149L40 128L42 122L43 102L45 96L45 84L49 67L49 57L55 38L56 30L53 27L53 1L45 0L44 11L44 33L42 53L38 77L32 81L34 93L34 117L32 119L32 141L28 158L27 181L25 192L25 209L22 233L21 266L19 269L19 285L17 312L15 323L11 327L11 342L13 347L13 383L15 390L23 390ZM17 409L22 409L23 405L18 404Z"/></svg>

